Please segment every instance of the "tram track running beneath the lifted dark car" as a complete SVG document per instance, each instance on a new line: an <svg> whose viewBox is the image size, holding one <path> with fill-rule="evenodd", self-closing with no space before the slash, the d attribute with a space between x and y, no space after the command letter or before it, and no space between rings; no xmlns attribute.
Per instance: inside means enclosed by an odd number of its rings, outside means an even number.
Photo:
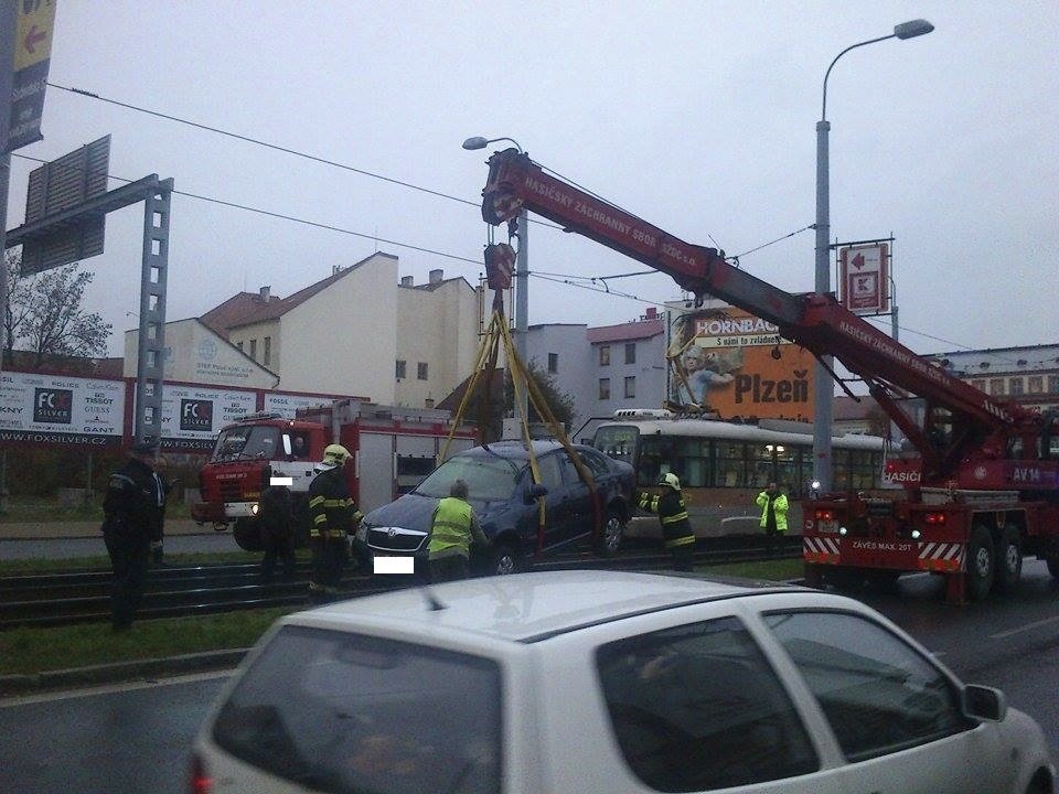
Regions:
<svg viewBox="0 0 1059 794"><path fill-rule="evenodd" d="M653 546L653 545L652 545ZM790 559L801 555L801 537L783 538L769 548L762 537L700 539L696 565ZM668 555L656 546L623 550L599 558L588 550L548 555L531 562L532 570L659 570ZM309 566L301 564L290 581L264 584L256 564L167 567L152 569L145 584L138 616L180 618L269 607L309 607ZM410 577L350 573L343 589L351 597L407 586ZM0 631L19 626L61 626L110 620L110 572L81 570L0 577Z"/></svg>

